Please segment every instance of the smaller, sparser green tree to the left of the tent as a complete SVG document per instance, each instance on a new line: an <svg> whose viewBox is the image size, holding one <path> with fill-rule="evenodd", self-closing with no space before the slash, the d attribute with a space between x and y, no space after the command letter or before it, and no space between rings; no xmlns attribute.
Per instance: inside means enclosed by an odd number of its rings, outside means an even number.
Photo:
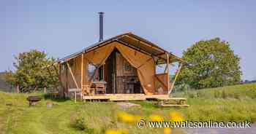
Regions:
<svg viewBox="0 0 256 134"><path fill-rule="evenodd" d="M19 85L20 92L31 92L43 87L56 87L58 71L48 66L54 63L53 58L47 58L45 52L31 50L15 56L13 63L15 72L7 71L5 79L12 85Z"/></svg>

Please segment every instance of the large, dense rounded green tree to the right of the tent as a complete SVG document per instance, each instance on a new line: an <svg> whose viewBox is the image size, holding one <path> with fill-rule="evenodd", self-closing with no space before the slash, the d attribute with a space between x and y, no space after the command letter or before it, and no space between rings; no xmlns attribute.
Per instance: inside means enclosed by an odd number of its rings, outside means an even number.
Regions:
<svg viewBox="0 0 256 134"><path fill-rule="evenodd" d="M219 38L196 42L183 54L187 64L181 69L179 84L201 89L241 82L240 58L228 42Z"/></svg>

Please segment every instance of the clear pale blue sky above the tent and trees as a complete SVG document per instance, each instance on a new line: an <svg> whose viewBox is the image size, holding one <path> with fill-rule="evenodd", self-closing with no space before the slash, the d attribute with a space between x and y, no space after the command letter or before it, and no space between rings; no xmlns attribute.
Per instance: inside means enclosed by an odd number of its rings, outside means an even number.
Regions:
<svg viewBox="0 0 256 134"><path fill-rule="evenodd" d="M131 31L181 56L201 39L219 37L241 57L243 79L256 79L255 1L0 1L0 71L31 49L55 58Z"/></svg>

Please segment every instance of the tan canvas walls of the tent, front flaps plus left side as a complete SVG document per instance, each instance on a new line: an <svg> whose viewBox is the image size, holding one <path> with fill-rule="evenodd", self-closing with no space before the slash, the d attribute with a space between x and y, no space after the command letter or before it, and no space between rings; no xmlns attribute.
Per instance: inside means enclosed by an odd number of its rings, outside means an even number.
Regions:
<svg viewBox="0 0 256 134"><path fill-rule="evenodd" d="M107 44L103 47L97 48L96 50L92 50L83 54L83 73L84 73L84 80L86 82L86 65L88 63L92 63L95 66L101 66L105 63L110 53L116 48L121 55L135 68L137 68L138 77L140 79L140 84L143 87L143 91L147 94L154 94L155 92L155 85L154 85L154 74L155 74L155 65L154 60L151 56L143 54L137 50L134 50L130 47L124 46L118 42L112 42ZM72 66L72 72L75 75L75 80L78 83L78 87L80 88L80 81L81 81L81 59L82 56L79 55L78 57L74 58L74 65ZM69 60L69 62L72 60ZM64 65L63 65L64 66ZM67 69L67 70L66 70ZM64 87L67 85L66 89L69 88L76 88L75 82L72 79L72 76L68 70L65 68L64 71L61 71L61 82Z"/></svg>

